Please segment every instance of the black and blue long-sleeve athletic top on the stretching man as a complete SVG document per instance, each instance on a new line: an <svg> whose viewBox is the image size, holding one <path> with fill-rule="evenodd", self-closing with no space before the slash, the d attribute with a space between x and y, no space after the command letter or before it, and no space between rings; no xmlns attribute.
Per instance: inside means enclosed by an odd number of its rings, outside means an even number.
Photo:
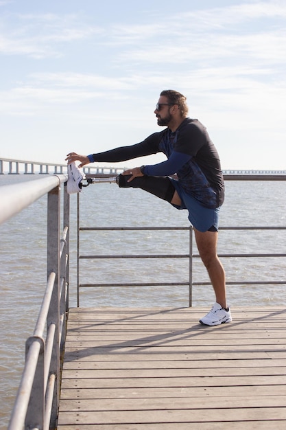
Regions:
<svg viewBox="0 0 286 430"><path fill-rule="evenodd" d="M224 178L219 155L206 128L186 118L176 131L169 128L153 133L143 142L93 154L93 160L116 163L163 152L167 160L145 166L144 174L167 176L176 173L182 188L205 207L224 202Z"/></svg>

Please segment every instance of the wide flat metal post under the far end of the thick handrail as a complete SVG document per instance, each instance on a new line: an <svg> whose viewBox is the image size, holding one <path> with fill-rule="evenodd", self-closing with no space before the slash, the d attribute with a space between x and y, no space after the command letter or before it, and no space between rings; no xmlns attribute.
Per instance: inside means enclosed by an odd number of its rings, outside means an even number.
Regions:
<svg viewBox="0 0 286 430"><path fill-rule="evenodd" d="M54 272L56 279L51 296L51 306L47 315L47 327L56 325L51 356L50 374L56 378L53 404L51 407L51 429L56 427L60 399L60 186L48 194L47 202L47 277Z"/></svg>

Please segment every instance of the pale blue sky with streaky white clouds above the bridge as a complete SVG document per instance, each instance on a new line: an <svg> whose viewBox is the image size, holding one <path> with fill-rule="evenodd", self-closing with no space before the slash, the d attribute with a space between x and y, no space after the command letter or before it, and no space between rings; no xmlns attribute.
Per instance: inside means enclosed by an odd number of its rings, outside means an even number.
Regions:
<svg viewBox="0 0 286 430"><path fill-rule="evenodd" d="M0 0L0 157L136 144L175 89L223 170L284 170L285 66L285 0Z"/></svg>

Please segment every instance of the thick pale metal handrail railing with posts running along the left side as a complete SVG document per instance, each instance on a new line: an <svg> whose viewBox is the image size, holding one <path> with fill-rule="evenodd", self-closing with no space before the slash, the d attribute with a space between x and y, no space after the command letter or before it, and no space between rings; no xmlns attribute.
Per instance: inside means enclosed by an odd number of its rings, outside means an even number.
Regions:
<svg viewBox="0 0 286 430"><path fill-rule="evenodd" d="M0 188L0 223L47 194L47 285L34 334L26 341L25 366L8 430L56 428L69 308L69 195L64 187L61 205L60 192L65 181L67 175L59 175Z"/></svg>

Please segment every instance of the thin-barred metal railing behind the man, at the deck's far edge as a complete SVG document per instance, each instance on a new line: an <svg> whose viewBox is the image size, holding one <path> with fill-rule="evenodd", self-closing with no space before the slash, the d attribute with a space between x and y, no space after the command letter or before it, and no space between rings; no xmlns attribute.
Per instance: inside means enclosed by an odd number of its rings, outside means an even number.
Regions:
<svg viewBox="0 0 286 430"><path fill-rule="evenodd" d="M112 176L110 175L110 178L108 179L106 175L106 178L104 181L109 182L112 181ZM86 175L88 179L93 180L95 183L97 181L102 181L102 179L97 179L97 175L89 174ZM224 179L226 181L286 181L286 175L285 174L225 174ZM82 198L82 197L81 197ZM80 252L80 233L83 231L144 231L144 230L155 230L155 231L169 231L173 230L174 234L178 231L186 231L187 232L187 240L189 240L189 253L148 253L148 254L82 254ZM223 230L257 230L257 231L263 231L263 230L286 230L286 227L265 227L265 226L255 226L255 227L249 227L249 226L241 226L241 227L219 227L220 231ZM203 286L203 285L211 285L211 282L203 282L198 281L195 282L193 280L193 259L198 259L200 256L198 253L194 253L193 251L193 227L82 227L80 225L80 194L78 194L78 234L77 234L77 302L78 306L80 306L80 290L82 288L100 288L100 287L147 287L147 286L188 286L189 289L189 306L192 306L193 302L193 286ZM167 249L167 244L166 247ZM285 258L286 253L219 253L219 258ZM126 260L126 259L187 259L189 262L189 275L188 279L186 279L184 282L80 282L80 262L82 260ZM150 269L152 271L152 269ZM116 269L114 268L114 271ZM227 281L226 285L262 285L262 284L286 284L285 280L280 281L274 281L273 279L270 279L269 281L245 281L245 280L237 280L237 281Z"/></svg>

